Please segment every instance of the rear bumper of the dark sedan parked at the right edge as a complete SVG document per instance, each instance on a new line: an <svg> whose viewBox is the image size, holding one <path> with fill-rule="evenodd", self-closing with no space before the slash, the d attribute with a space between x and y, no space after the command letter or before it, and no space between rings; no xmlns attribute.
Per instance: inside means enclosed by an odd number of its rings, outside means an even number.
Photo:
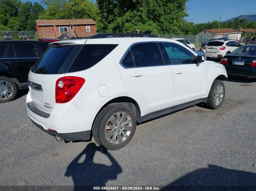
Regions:
<svg viewBox="0 0 256 191"><path fill-rule="evenodd" d="M245 68L239 66L226 66L226 71L230 75L238 75L238 76L250 76L255 78L256 77L256 68Z"/></svg>

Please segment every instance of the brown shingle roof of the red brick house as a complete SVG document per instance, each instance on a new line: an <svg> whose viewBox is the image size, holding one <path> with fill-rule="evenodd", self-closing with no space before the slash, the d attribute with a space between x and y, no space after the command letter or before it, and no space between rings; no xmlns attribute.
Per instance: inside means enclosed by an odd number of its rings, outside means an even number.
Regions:
<svg viewBox="0 0 256 191"><path fill-rule="evenodd" d="M68 22L69 21L69 22ZM92 19L53 19L53 20L35 20L38 26L45 25L78 25L78 24L96 24Z"/></svg>

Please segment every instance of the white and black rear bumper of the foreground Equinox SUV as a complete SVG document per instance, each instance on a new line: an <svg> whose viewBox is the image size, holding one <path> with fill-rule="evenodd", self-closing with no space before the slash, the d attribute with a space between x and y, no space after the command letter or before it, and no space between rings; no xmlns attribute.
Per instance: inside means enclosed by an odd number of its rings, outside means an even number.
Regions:
<svg viewBox="0 0 256 191"><path fill-rule="evenodd" d="M33 107L30 93L26 102L27 114L39 129L67 140L89 140L93 121L100 110L100 107L80 109L68 102L56 103L52 112L47 114Z"/></svg>

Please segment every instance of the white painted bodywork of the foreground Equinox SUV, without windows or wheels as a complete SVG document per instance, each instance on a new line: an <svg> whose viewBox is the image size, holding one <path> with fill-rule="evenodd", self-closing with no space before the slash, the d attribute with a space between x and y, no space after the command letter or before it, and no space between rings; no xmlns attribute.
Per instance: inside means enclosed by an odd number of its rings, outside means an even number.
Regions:
<svg viewBox="0 0 256 191"><path fill-rule="evenodd" d="M56 75L36 74L30 71L29 81L42 85L43 96L42 99L38 99L40 94L38 94L39 96L33 95L35 91L32 91L32 87L30 87L27 103L33 102L35 107L50 114L50 116L45 119L27 107L29 117L45 130L50 128L61 133L90 130L100 109L115 98L130 97L138 103L140 116L145 116L174 106L176 95L176 105L190 100L192 100L191 103L194 103L193 99L197 100L198 98L203 100L208 97L211 84L216 77L219 75L227 77L222 65L207 61L197 64L183 64L182 66L159 65L125 68L121 64L121 60L131 46L138 42L176 43L190 51L194 57L197 56L182 43L171 39L130 37L60 41L60 44L118 44L118 46L97 64L82 71ZM184 74L173 74L176 70L183 70ZM143 75L131 76L138 73ZM173 77L174 75L176 76ZM71 101L55 103L56 81L63 76L82 77L85 79L85 83ZM174 81L175 84L173 84ZM105 87L104 94L100 89L102 86ZM175 91L177 91L176 94ZM182 94L186 95L183 96Z"/></svg>

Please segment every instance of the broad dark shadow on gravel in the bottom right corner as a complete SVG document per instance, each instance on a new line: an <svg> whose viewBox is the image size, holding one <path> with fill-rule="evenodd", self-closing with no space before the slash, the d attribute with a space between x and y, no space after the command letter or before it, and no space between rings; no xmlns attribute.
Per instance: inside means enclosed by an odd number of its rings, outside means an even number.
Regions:
<svg viewBox="0 0 256 191"><path fill-rule="evenodd" d="M161 189L168 190L251 191L256 190L256 173L208 164L207 168L194 170Z"/></svg>

